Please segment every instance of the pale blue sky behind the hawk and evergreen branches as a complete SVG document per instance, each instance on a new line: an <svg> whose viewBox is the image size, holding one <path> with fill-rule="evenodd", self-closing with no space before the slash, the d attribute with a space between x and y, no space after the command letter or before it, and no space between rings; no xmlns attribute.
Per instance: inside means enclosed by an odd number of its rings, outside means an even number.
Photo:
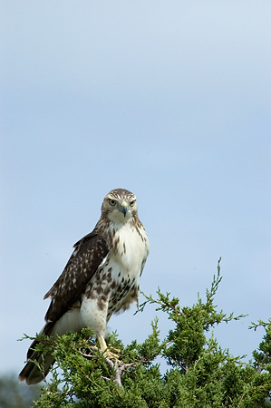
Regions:
<svg viewBox="0 0 271 408"><path fill-rule="evenodd" d="M222 257L233 355L271 316L269 1L1 2L1 373L105 194L131 189L150 238L141 289L189 306ZM143 301L143 298L141 298ZM142 341L156 312L111 319ZM160 316L161 335L169 329ZM8 352L12 350L12 352Z"/></svg>

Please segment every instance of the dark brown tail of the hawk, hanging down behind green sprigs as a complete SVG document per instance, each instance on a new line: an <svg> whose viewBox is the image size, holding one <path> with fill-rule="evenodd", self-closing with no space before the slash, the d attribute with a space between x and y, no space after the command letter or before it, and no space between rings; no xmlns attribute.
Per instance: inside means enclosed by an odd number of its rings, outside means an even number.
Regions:
<svg viewBox="0 0 271 408"><path fill-rule="evenodd" d="M40 334L52 335L53 326L54 322L46 323ZM28 385L38 384L43 381L54 363L51 353L41 355L34 350L38 342L38 340L34 340L32 345L30 345L26 355L27 363L19 374L19 380L25 381Z"/></svg>

